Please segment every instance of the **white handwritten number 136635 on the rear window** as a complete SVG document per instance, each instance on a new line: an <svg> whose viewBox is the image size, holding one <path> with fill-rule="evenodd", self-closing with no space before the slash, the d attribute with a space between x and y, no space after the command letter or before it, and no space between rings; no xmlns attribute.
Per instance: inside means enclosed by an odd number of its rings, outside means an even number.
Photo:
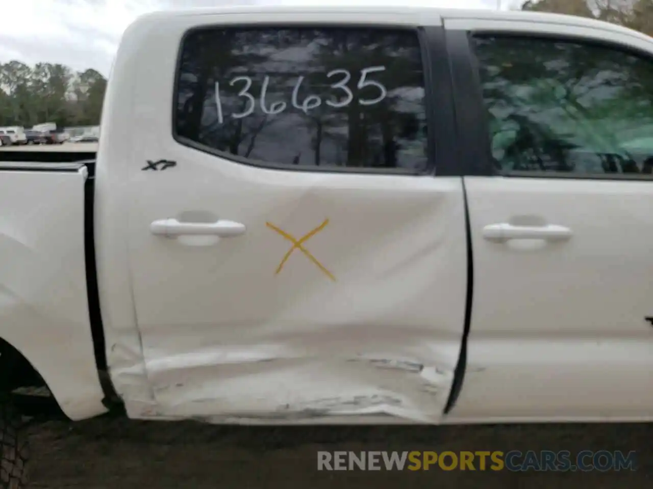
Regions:
<svg viewBox="0 0 653 489"><path fill-rule="evenodd" d="M387 95L388 91L383 86L382 83L376 82L375 80L370 80L369 75L375 72L384 71L385 67L368 67L360 70L360 76L358 77L357 88L359 90L366 87L374 87L379 92L379 95L375 98L358 98L358 104L362 106L370 106L378 104L383 100ZM338 69L332 70L327 73L327 78L335 78L340 76L340 80L334 82L330 87L334 90L342 91L344 98L341 100L325 100L325 104L333 108L342 108L346 107L354 100L354 94L351 89L347 86L349 80L351 80L351 73L348 70ZM291 105L308 114L308 111L318 108L322 105L322 98L318 95L309 95L302 102L298 100L299 89L304 82L304 76L298 76L295 87L293 88L293 95L291 96ZM259 102L257 104L256 97L249 93L251 89L252 80L249 76L236 76L233 78L229 85L232 87L236 83L244 83L242 89L238 92L238 96L245 98L247 100L245 110L239 113L232 113L231 117L233 119L242 119L251 115L255 110L257 105L261 108L261 111L266 114L274 115L280 112L283 112L287 108L286 102L274 102L268 106L265 98L268 93L268 86L270 85L270 76L266 75L263 79L263 85L261 85L261 93L259 94ZM215 105L217 107L217 119L220 124L224 122L224 115L222 111L222 100L220 97L220 83L215 82Z"/></svg>

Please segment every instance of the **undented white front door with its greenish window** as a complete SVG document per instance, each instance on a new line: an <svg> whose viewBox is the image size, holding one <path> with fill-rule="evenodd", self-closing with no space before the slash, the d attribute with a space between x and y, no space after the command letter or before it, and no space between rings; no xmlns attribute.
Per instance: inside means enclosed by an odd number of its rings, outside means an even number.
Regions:
<svg viewBox="0 0 653 489"><path fill-rule="evenodd" d="M451 416L650 419L653 42L511 19L445 20L477 151L469 370Z"/></svg>

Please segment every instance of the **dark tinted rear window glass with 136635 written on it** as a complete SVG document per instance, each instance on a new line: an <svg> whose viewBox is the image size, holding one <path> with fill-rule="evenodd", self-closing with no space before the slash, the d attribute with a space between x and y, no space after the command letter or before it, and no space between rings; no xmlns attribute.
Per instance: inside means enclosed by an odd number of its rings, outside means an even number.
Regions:
<svg viewBox="0 0 653 489"><path fill-rule="evenodd" d="M272 164L426 167L413 31L204 29L182 46L176 132Z"/></svg>

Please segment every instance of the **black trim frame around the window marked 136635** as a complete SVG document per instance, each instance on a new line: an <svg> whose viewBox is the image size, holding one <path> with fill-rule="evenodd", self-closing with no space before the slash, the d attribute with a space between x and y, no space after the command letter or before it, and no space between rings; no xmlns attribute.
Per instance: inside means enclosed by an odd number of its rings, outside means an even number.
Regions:
<svg viewBox="0 0 653 489"><path fill-rule="evenodd" d="M179 72L182 65L183 46L187 37L197 31L209 29L379 29L411 31L417 35L422 55L422 70L424 71L424 102L426 104L427 125L427 158L428 164L424 171L409 170L407 168L370 168L370 167L335 167L335 166L310 166L287 165L261 160L251 160L225 151L202 145L177 134L177 94ZM451 87L451 74L447 62L445 46L445 28L443 25L405 25L393 23L343 23L343 22L307 22L307 23L229 23L229 24L203 24L187 29L179 42L177 59L175 63L174 85L172 87L172 138L182 146L195 149L208 155L217 156L231 162L246 164L257 168L284 171L310 171L322 173L349 173L364 175L407 175L407 176L451 176L461 175L460 168L456 165L455 157L455 132L453 127L454 106L453 89ZM438 105L439 104L439 105Z"/></svg>

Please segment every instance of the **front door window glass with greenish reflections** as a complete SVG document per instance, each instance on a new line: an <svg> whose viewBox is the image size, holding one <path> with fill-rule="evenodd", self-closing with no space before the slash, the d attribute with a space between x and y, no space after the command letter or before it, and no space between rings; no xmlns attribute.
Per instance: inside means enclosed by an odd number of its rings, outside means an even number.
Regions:
<svg viewBox="0 0 653 489"><path fill-rule="evenodd" d="M557 40L476 38L500 171L651 173L653 65Z"/></svg>

